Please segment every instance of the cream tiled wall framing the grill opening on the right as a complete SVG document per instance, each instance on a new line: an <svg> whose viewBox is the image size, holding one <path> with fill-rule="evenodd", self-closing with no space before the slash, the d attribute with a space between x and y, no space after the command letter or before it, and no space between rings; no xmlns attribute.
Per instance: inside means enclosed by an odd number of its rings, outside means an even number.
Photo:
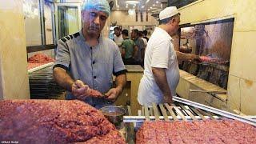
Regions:
<svg viewBox="0 0 256 144"><path fill-rule="evenodd" d="M198 0L179 11L181 24L234 17L228 106L256 115L256 1Z"/></svg>

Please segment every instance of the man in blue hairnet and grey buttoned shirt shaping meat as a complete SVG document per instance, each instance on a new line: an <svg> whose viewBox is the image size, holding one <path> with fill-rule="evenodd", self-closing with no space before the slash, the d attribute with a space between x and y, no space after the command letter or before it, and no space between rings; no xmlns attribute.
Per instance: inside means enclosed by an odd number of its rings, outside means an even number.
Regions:
<svg viewBox="0 0 256 144"><path fill-rule="evenodd" d="M67 90L66 99L79 99L101 108L111 105L126 84L126 68L118 46L102 37L110 16L106 0L85 0L82 30L58 41L54 79ZM115 77L113 87L112 74ZM98 90L104 96L92 97Z"/></svg>

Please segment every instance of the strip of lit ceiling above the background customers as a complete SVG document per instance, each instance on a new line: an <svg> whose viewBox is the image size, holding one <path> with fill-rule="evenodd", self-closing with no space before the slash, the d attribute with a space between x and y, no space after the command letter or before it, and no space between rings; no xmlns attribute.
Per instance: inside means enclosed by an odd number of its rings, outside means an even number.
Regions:
<svg viewBox="0 0 256 144"><path fill-rule="evenodd" d="M113 1L112 10L142 10L142 11L160 11L167 6L168 0L107 0Z"/></svg>

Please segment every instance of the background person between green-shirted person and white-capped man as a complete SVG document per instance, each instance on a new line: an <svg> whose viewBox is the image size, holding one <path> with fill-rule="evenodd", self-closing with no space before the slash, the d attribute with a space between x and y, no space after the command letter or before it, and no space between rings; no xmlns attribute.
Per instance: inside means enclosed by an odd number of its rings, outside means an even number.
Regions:
<svg viewBox="0 0 256 144"><path fill-rule="evenodd" d="M138 37L138 29L132 30L130 36L134 40L135 45L138 46L138 54L135 56L136 64L143 66L145 44L142 38Z"/></svg>

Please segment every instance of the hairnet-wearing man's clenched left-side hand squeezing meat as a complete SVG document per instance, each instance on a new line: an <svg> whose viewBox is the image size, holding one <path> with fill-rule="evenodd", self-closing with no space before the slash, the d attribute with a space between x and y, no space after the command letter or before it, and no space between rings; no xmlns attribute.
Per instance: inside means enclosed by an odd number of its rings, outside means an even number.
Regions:
<svg viewBox="0 0 256 144"><path fill-rule="evenodd" d="M85 85L82 81L77 80L72 84L72 94L75 98L84 100L90 95L90 87Z"/></svg>

